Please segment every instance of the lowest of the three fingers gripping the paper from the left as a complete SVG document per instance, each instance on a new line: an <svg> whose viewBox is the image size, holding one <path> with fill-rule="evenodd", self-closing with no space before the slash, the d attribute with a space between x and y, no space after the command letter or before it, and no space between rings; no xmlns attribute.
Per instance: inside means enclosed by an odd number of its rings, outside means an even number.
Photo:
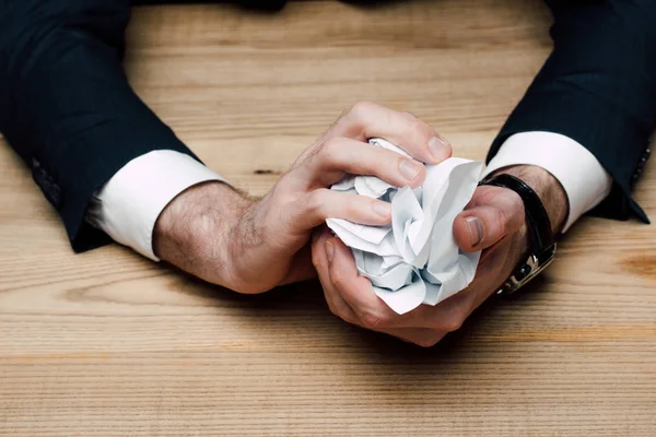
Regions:
<svg viewBox="0 0 656 437"><path fill-rule="evenodd" d="M391 204L366 196L320 188L297 199L290 206L289 214L286 223L298 233L319 226L327 218L383 226L391 222Z"/></svg>

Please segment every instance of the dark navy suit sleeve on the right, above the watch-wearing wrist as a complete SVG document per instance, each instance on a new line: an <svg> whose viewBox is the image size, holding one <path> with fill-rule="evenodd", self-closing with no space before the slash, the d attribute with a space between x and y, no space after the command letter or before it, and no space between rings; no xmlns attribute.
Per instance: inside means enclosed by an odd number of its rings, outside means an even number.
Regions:
<svg viewBox="0 0 656 437"><path fill-rule="evenodd" d="M561 133L588 149L613 178L597 215L648 220L631 188L656 122L656 1L551 0L553 51L494 140ZM563 156L563 158L567 158Z"/></svg>

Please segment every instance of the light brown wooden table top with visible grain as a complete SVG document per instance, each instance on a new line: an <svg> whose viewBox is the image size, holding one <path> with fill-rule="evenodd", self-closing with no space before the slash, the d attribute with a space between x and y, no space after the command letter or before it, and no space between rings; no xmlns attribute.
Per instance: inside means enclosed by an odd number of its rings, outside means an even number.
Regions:
<svg viewBox="0 0 656 437"><path fill-rule="evenodd" d="M537 0L153 7L126 63L210 167L261 194L359 99L482 160L549 24ZM656 217L653 165L636 198ZM586 217L530 293L422 350L338 320L315 283L244 297L118 246L74 256L2 144L0 435L654 436L655 245L653 226Z"/></svg>

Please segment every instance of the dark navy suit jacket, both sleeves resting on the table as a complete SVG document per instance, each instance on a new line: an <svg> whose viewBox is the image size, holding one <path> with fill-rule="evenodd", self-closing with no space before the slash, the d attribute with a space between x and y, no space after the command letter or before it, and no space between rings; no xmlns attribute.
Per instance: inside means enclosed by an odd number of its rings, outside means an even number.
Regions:
<svg viewBox="0 0 656 437"><path fill-rule="evenodd" d="M77 251L108 240L86 224L85 211L94 191L125 164L161 149L194 156L124 74L130 3L137 2L0 0L0 131L32 168ZM647 222L631 186L656 121L656 0L548 3L553 52L488 158L516 132L565 134L614 180L596 212L614 218L634 213Z"/></svg>

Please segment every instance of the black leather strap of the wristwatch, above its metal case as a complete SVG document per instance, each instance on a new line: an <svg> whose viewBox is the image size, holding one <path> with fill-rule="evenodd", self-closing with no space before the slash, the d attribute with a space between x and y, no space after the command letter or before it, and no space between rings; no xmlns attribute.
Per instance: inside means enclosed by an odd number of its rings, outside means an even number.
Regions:
<svg viewBox="0 0 656 437"><path fill-rule="evenodd" d="M526 182L515 176L501 174L482 180L480 185L508 188L519 194L522 201L524 201L530 251L532 253L541 253L546 248L553 245L554 239L549 214L539 196Z"/></svg>

